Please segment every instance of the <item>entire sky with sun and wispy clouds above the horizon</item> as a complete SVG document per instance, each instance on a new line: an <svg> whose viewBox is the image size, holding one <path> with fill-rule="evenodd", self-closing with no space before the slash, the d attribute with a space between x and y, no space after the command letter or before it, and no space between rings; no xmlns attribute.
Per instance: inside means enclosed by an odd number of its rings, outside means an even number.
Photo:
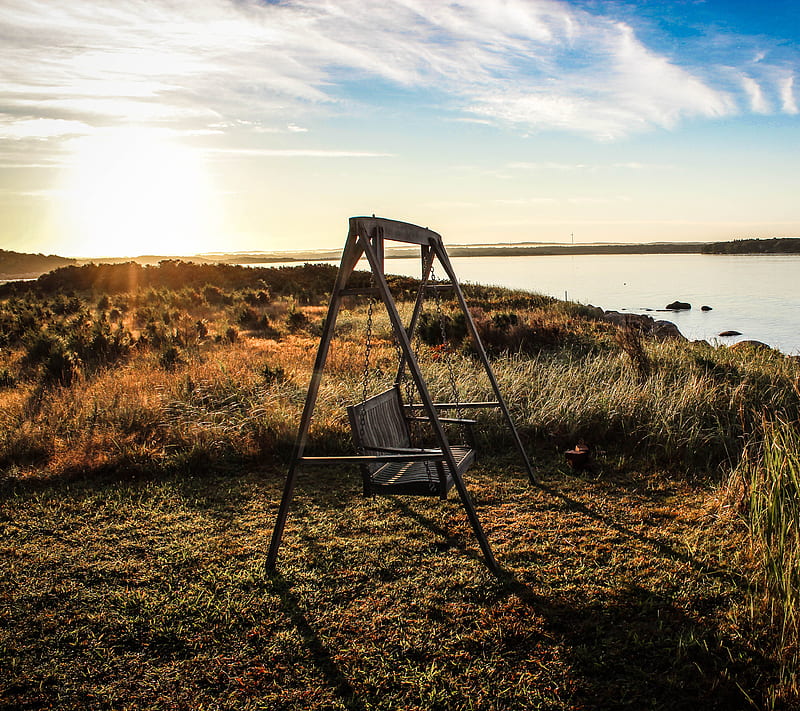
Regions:
<svg viewBox="0 0 800 711"><path fill-rule="evenodd" d="M800 236L794 0L2 0L0 248Z"/></svg>

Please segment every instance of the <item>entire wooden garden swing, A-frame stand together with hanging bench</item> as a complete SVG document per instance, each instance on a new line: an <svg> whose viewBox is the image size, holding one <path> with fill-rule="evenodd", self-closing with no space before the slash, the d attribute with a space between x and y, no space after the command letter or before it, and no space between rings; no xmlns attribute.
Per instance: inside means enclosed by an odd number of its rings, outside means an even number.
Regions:
<svg viewBox="0 0 800 711"><path fill-rule="evenodd" d="M414 244L420 247L422 276L408 328L403 326L400 314L397 310L397 305L395 304L386 282L384 271L384 246L387 240ZM365 256L369 262L373 277L373 286L367 288L350 288L347 286L348 280L362 256ZM434 403L431 399L411 341L422 313L425 292L430 286L429 280L431 278L434 259L439 262L447 274L449 279L447 286L452 288L455 293L459 307L464 315L467 330L472 338L474 348L492 386L496 398L495 401L459 403L458 399L455 398L454 402ZM436 284L435 288L442 288L442 286L441 284ZM438 292L435 293L437 294L438 305ZM393 387L377 395L373 395L372 397L367 396L366 377L369 370L373 308L372 302L370 302L363 397L360 403L351 405L348 408L353 439L360 454L337 457L306 456L305 449L308 441L311 417L319 394L319 387L322 381L328 351L333 339L336 318L341 308L342 299L346 296L368 296L373 299L377 297L383 302L391 322L392 332L400 356L397 377ZM443 338L445 337L443 322L442 336ZM408 375L413 381L413 386L419 394L421 402L418 404L404 403L402 399L400 382L405 375L406 367L408 369ZM450 380L451 384L454 385L454 378L452 375ZM474 504L462 478L464 472L466 472L475 459L474 448L469 443L464 445L451 445L444 429L444 424L446 423L456 423L462 427L473 425L474 420L467 420L460 417L460 412L462 409L466 408L482 407L494 407L502 411L517 450L524 462L528 477L532 483L536 483L530 461L522 446L508 407L500 393L497 379L494 376L486 351L478 336L475 323L467 308L464 294L456 279L441 236L427 228L395 220L376 218L374 216L350 218L350 229L342 252L342 260L336 277L336 283L334 284L331 294L328 314L325 319L323 333L314 363L314 372L309 384L306 402L300 420L300 427L295 441L295 448L289 465L289 472L286 477L283 497L278 509L275 528L272 533L272 540L267 556L267 568L274 569L275 567L278 549L289 513L289 505L294 492L298 466L303 463L322 464L352 462L359 464L361 467L364 494L366 496L372 494L406 494L415 496L438 496L444 499L447 497L448 491L455 487L475 537L481 547L487 566L494 572L498 572L499 567L495 561L494 554L486 539L486 535L475 512ZM456 418L447 418L439 415L441 410L448 409L455 409L459 416ZM409 423L412 421L421 421L428 426L435 440L434 447L413 446L411 429L409 427ZM470 438L468 437L467 439L469 442Z"/></svg>

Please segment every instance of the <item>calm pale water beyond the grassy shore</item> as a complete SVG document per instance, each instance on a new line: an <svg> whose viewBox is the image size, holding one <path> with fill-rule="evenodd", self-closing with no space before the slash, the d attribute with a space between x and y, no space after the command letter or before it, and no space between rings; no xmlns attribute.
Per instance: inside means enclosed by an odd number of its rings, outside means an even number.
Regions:
<svg viewBox="0 0 800 711"><path fill-rule="evenodd" d="M726 344L753 339L784 353L800 354L798 255L454 257L452 262L462 282L526 289L560 299L566 295L607 310L672 321L690 339ZM390 259L386 269L419 276L419 261ZM691 311L657 311L676 299L692 304ZM713 310L703 312L703 305ZM742 335L718 335L729 330Z"/></svg>

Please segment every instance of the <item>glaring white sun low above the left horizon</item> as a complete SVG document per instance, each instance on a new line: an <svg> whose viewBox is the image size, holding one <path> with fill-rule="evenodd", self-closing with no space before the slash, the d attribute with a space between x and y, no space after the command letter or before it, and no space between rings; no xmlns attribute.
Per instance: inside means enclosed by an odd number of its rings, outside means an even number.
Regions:
<svg viewBox="0 0 800 711"><path fill-rule="evenodd" d="M76 141L62 194L73 252L85 257L210 251L218 226L202 157L153 131Z"/></svg>

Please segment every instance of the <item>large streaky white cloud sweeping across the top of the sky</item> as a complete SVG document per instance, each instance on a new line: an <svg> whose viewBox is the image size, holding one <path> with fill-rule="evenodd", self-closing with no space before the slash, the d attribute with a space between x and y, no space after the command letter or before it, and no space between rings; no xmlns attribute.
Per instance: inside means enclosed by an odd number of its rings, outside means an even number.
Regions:
<svg viewBox="0 0 800 711"><path fill-rule="evenodd" d="M459 120L606 140L738 110L712 69L701 79L631 26L558 0L5 0L0 33L0 112L15 122L300 134L313 114L379 105L381 83L423 89ZM372 96L349 95L353 81ZM769 110L755 79L737 91ZM791 82L780 96L796 113Z"/></svg>

